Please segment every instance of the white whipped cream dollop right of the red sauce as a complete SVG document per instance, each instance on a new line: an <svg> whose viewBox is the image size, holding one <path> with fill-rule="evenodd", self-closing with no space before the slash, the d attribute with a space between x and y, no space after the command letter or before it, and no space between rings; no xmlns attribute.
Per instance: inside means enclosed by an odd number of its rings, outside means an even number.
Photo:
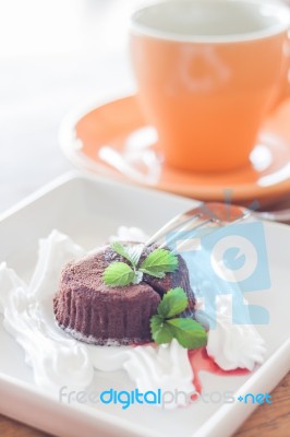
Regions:
<svg viewBox="0 0 290 437"><path fill-rule="evenodd" d="M247 302L243 299L242 310L246 311ZM198 312L197 312L198 314ZM197 315L198 318L198 315ZM213 319L210 310L203 312L202 318ZM208 330L207 353L223 370L245 368L253 370L256 364L265 359L266 345L249 314L244 320L249 323L234 323L232 319L232 295L216 297L216 323Z"/></svg>

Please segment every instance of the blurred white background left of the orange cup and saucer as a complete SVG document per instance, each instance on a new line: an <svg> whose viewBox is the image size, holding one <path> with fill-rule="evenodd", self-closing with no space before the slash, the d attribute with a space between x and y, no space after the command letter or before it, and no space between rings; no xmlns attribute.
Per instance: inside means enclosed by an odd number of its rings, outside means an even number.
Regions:
<svg viewBox="0 0 290 437"><path fill-rule="evenodd" d="M0 0L0 212L72 168L58 143L80 104L134 91L140 0Z"/></svg>

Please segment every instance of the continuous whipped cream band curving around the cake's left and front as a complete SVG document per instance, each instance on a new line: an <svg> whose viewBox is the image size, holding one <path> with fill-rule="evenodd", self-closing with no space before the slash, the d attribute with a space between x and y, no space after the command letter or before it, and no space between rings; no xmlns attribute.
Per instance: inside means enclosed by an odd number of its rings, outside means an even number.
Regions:
<svg viewBox="0 0 290 437"><path fill-rule="evenodd" d="M128 233L126 233L128 237ZM195 391L188 351L177 341L161 346L94 346L78 342L55 322L52 298L62 267L82 258L84 249L68 236L53 231L39 241L38 262L26 285L5 263L0 264L0 311L4 328L25 351L35 382L58 391L62 386L83 389L93 380L94 368L125 369L140 390ZM174 408L177 403L165 406Z"/></svg>

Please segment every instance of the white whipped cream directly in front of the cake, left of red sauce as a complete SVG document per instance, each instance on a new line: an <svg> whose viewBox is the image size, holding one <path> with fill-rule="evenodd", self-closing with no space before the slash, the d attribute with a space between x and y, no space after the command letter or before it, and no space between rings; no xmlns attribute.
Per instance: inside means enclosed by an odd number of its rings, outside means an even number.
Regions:
<svg viewBox="0 0 290 437"><path fill-rule="evenodd" d="M194 374L189 361L188 350L177 340L171 343L142 345L136 347L123 346L89 346L90 357L95 368L102 371L113 371L124 368L130 378L142 392L157 391L162 393L185 393L172 397L171 402L165 403L167 409L174 409L189 403L190 395L196 393L193 383Z"/></svg>

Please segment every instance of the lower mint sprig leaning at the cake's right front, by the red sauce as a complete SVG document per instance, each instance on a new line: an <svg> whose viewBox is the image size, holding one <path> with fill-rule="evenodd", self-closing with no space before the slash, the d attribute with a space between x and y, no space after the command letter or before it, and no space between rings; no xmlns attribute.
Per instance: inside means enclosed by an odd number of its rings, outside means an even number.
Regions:
<svg viewBox="0 0 290 437"><path fill-rule="evenodd" d="M157 315L150 318L153 340L157 344L171 342L172 339L185 349L202 347L207 342L205 329L191 318L174 317L189 306L189 298L183 288L171 288L157 307Z"/></svg>

